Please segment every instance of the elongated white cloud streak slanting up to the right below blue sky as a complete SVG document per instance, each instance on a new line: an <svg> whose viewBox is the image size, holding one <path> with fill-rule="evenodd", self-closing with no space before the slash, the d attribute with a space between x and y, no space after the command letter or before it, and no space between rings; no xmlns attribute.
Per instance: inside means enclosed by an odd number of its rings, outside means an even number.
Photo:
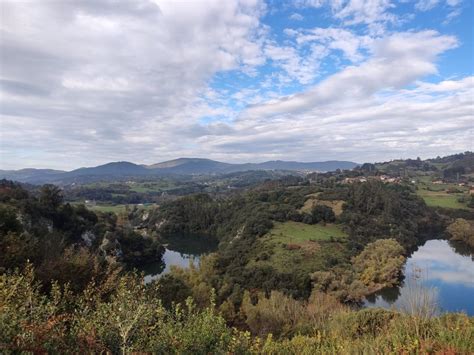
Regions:
<svg viewBox="0 0 474 355"><path fill-rule="evenodd" d="M399 33L376 40L368 61L346 67L303 94L253 107L247 115L304 111L335 101L370 97L384 88L402 88L419 77L435 74L436 56L456 45L454 37L440 36L434 31Z"/></svg>

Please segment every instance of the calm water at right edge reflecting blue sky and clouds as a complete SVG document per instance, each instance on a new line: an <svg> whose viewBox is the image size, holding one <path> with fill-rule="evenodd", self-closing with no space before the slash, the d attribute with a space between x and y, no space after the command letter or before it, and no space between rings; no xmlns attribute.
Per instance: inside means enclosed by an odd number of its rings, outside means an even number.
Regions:
<svg viewBox="0 0 474 355"><path fill-rule="evenodd" d="M441 311L474 315L474 250L446 240L429 240L408 259L405 279L368 297L367 307L403 308L413 294L413 280L430 289Z"/></svg>

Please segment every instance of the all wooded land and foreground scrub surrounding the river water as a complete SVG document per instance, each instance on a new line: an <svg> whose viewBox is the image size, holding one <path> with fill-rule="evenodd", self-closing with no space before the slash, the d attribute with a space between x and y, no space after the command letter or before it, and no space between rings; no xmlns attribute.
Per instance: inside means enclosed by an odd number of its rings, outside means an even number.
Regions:
<svg viewBox="0 0 474 355"><path fill-rule="evenodd" d="M93 212L54 185L0 183L0 349L110 353L470 353L474 319L364 308L429 235L472 243L472 212L410 184L283 178ZM183 236L218 249L150 283Z"/></svg>

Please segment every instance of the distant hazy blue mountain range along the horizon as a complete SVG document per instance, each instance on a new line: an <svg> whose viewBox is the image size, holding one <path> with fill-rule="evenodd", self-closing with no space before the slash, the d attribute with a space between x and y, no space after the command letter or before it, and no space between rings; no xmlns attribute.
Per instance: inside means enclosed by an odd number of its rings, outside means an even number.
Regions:
<svg viewBox="0 0 474 355"><path fill-rule="evenodd" d="M210 159L179 158L153 165L112 162L91 168L79 168L72 171L52 169L0 170L0 179L9 179L30 184L69 184L73 182L81 183L129 177L227 174L250 170L325 172L337 169L353 169L357 165L357 163L351 161L337 160L310 163L274 160L263 163L230 164Z"/></svg>

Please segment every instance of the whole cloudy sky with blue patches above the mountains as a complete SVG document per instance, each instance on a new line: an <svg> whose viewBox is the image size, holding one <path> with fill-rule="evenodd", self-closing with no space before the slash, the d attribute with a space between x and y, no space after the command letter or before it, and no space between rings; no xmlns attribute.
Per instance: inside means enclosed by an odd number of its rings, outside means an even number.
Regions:
<svg viewBox="0 0 474 355"><path fill-rule="evenodd" d="M0 2L0 169L473 149L470 0Z"/></svg>

